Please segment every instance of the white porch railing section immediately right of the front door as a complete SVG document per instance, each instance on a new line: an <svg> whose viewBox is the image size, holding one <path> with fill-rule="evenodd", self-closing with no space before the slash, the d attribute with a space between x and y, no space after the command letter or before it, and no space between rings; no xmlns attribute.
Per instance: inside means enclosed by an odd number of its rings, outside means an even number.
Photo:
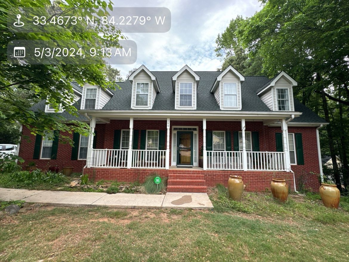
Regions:
<svg viewBox="0 0 349 262"><path fill-rule="evenodd" d="M207 169L242 170L242 152L207 151Z"/></svg>

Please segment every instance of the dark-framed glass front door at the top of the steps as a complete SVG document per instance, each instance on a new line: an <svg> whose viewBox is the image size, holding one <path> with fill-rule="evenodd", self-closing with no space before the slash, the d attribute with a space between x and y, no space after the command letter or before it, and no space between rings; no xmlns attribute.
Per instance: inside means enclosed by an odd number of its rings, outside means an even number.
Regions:
<svg viewBox="0 0 349 262"><path fill-rule="evenodd" d="M177 165L193 166L193 132L177 132Z"/></svg>

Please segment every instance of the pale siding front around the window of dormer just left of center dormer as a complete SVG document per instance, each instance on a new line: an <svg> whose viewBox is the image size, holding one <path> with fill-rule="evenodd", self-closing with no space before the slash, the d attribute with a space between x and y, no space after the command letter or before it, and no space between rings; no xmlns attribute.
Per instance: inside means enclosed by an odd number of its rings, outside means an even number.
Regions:
<svg viewBox="0 0 349 262"><path fill-rule="evenodd" d="M137 84L146 84L148 85L148 104L146 106L136 105L136 88ZM151 109L153 107L153 82L151 81L150 76L142 70L134 78L132 83L132 109ZM155 94L156 96L156 94ZM155 97L154 97L155 100Z"/></svg>

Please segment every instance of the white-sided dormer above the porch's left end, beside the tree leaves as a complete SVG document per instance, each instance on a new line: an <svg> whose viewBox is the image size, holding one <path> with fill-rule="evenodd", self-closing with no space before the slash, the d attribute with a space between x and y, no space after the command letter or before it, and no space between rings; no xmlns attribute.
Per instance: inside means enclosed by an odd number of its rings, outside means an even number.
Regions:
<svg viewBox="0 0 349 262"><path fill-rule="evenodd" d="M85 84L82 90L80 109L85 109L85 110L102 109L105 106L105 104L111 99L112 96L113 94L111 93L110 90L105 90L100 86ZM94 102L95 107L87 108L86 99L90 99L90 102ZM92 100L95 100L95 101L92 101Z"/></svg>

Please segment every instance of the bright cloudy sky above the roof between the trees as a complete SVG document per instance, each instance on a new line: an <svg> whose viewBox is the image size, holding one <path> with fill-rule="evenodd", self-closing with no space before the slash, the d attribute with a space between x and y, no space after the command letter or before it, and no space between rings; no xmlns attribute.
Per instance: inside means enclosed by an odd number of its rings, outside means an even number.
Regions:
<svg viewBox="0 0 349 262"><path fill-rule="evenodd" d="M171 29L166 33L125 33L137 43L138 58L132 65L116 65L125 78L142 64L150 71L177 71L185 64L194 71L216 70L222 62L214 49L218 33L237 15L260 10L257 0L114 0L116 7L167 7Z"/></svg>

